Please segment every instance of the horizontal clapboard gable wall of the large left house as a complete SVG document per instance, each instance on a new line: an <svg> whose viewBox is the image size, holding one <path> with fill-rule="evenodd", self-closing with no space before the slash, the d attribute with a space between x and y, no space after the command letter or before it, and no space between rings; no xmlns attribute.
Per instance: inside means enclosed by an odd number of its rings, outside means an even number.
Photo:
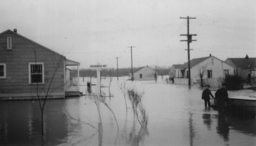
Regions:
<svg viewBox="0 0 256 146"><path fill-rule="evenodd" d="M6 37L12 37L12 50L6 50ZM6 63L6 78L0 78L0 99L29 98L36 95L36 85L29 84L29 62L44 62L44 82L39 85L48 87L52 71L56 68L54 59L61 60L61 66L52 80L52 96L64 96L64 62L63 56L29 41L22 36L7 31L0 35L0 62ZM33 98L33 97L31 97Z"/></svg>

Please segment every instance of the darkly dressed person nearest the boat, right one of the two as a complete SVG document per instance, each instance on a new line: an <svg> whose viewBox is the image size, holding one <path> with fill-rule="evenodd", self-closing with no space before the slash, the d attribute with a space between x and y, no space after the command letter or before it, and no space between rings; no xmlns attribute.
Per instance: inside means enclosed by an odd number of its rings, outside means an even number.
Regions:
<svg viewBox="0 0 256 146"><path fill-rule="evenodd" d="M217 106L219 110L225 106L225 101L228 99L228 91L226 84L221 84L222 87L215 92L215 99L217 100Z"/></svg>

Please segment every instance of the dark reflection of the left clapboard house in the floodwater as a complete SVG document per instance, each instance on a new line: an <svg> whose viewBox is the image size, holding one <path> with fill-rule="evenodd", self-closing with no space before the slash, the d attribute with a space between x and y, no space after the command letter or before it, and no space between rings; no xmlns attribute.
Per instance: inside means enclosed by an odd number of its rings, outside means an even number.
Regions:
<svg viewBox="0 0 256 146"><path fill-rule="evenodd" d="M52 101L45 110L41 135L40 109L32 101L0 102L0 145L38 145L60 143L67 136L67 122L60 114L63 102ZM55 107L55 108L54 108Z"/></svg>

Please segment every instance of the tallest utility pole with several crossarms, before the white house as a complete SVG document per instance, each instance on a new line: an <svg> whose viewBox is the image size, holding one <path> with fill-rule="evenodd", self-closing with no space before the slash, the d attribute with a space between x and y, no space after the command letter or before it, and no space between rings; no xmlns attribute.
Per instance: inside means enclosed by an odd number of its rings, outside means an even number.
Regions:
<svg viewBox="0 0 256 146"><path fill-rule="evenodd" d="M196 41L196 40L192 40L192 36L196 36L196 34L189 34L189 19L195 19L196 17L180 17L180 18L186 18L187 19L187 25L188 25L188 34L180 34L180 36L187 36L188 40L180 40L180 41L187 41L188 42L188 85L189 87L191 86L191 75L190 75L190 54L189 51L193 50L191 48L189 48L189 43L192 43L192 41Z"/></svg>

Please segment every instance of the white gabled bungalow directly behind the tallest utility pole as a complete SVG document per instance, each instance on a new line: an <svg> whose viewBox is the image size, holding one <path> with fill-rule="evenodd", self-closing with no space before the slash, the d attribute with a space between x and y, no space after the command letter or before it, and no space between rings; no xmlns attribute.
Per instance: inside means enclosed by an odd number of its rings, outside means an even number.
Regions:
<svg viewBox="0 0 256 146"><path fill-rule="evenodd" d="M204 84L219 87L221 78L234 75L234 68L213 55L192 59L190 61L191 85L200 83L200 74ZM188 85L188 62L175 69L175 84Z"/></svg>

